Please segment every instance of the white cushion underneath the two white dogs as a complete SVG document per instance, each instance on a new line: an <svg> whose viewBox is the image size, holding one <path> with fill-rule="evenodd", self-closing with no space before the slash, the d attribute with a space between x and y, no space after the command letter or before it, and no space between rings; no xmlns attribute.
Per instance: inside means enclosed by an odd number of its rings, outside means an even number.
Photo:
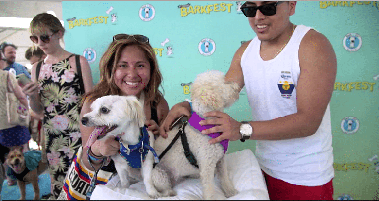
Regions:
<svg viewBox="0 0 379 201"><path fill-rule="evenodd" d="M215 177L216 200L269 200L267 187L258 161L251 150L242 150L225 155L229 176L239 193L226 198L220 182ZM105 185L97 185L91 200L153 200L147 193L143 182L120 187L120 178L115 176ZM181 179L173 187L177 195L155 200L203 200L200 179Z"/></svg>

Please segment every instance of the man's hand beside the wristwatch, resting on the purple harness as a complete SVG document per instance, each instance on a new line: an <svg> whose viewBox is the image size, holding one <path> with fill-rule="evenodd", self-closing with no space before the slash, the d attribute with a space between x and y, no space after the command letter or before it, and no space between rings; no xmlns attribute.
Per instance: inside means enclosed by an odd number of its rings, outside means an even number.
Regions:
<svg viewBox="0 0 379 201"><path fill-rule="evenodd" d="M218 143L224 139L236 141L241 139L240 126L241 122L234 120L228 114L212 111L203 114L203 117L215 117L210 119L204 119L199 122L200 125L215 125L210 129L203 130L202 134L211 134L221 132L222 134L216 138L210 139L210 144Z"/></svg>

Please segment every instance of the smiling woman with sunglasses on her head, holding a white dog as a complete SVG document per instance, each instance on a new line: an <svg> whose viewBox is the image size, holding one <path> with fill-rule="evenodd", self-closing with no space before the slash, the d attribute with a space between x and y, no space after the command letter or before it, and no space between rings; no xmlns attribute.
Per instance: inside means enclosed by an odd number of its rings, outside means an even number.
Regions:
<svg viewBox="0 0 379 201"><path fill-rule="evenodd" d="M169 106L158 89L161 86L162 74L158 67L155 51L149 44L149 38L143 35L115 35L103 54L99 67L99 83L82 99L81 117L83 123L86 124L86 118L83 116L92 111L91 104L95 100L99 100L100 97L132 95L137 97L143 106L143 112L148 119L144 122L147 130L159 135L159 125L166 118ZM115 171L115 166L113 161L107 166L103 166L103 161L108 156L118 154L120 143L114 138L102 140L90 138L90 136L103 131L103 127L102 129L95 129L95 127L80 125L82 142L88 146L81 146L79 149L75 156L76 160L70 167L70 172L72 172L70 175L81 175L81 178L89 178L81 180L81 182L90 187L79 192L72 185L72 183L77 184L77 181L73 181L72 177L67 177L64 191L62 191L59 199L89 198L94 185L108 182ZM74 167L85 169L92 175L83 176L85 171L79 171ZM94 183L90 183L92 177L96 177L93 180Z"/></svg>

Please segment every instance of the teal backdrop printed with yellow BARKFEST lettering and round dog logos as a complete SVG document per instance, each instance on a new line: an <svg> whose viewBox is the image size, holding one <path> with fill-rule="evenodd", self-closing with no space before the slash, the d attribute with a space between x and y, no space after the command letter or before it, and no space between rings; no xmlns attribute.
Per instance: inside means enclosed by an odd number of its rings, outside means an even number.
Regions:
<svg viewBox="0 0 379 201"><path fill-rule="evenodd" d="M239 9L242 3L62 1L65 49L88 59L96 84L100 58L113 35L149 37L163 74L164 96L172 107L190 98L190 82L197 74L207 69L226 73L234 52L255 37ZM298 1L291 21L323 33L337 55L330 102L334 198L378 200L379 2ZM225 112L240 121L251 119L244 90ZM255 151L255 142L229 146L229 152L243 149Z"/></svg>

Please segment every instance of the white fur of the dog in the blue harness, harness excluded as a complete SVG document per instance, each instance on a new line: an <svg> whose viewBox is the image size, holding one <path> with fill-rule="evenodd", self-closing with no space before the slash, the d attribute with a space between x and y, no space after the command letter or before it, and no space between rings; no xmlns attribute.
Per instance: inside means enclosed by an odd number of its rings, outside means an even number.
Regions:
<svg viewBox="0 0 379 201"><path fill-rule="evenodd" d="M103 96L91 104L91 109L91 112L83 116L83 118L88 118L85 126L108 126L111 128L116 125L117 127L107 133L105 137L120 136L120 140L125 146L134 145L139 142L140 127L144 125L146 117L142 104L135 96ZM153 133L151 131L148 131L148 133L150 136L150 146L154 149ZM122 187L129 187L130 184L143 180L150 197L158 198L161 196L155 189L152 181L151 174L154 157L151 151L148 151L142 168L138 169L131 168L120 154L115 154L111 158L115 163Z"/></svg>

